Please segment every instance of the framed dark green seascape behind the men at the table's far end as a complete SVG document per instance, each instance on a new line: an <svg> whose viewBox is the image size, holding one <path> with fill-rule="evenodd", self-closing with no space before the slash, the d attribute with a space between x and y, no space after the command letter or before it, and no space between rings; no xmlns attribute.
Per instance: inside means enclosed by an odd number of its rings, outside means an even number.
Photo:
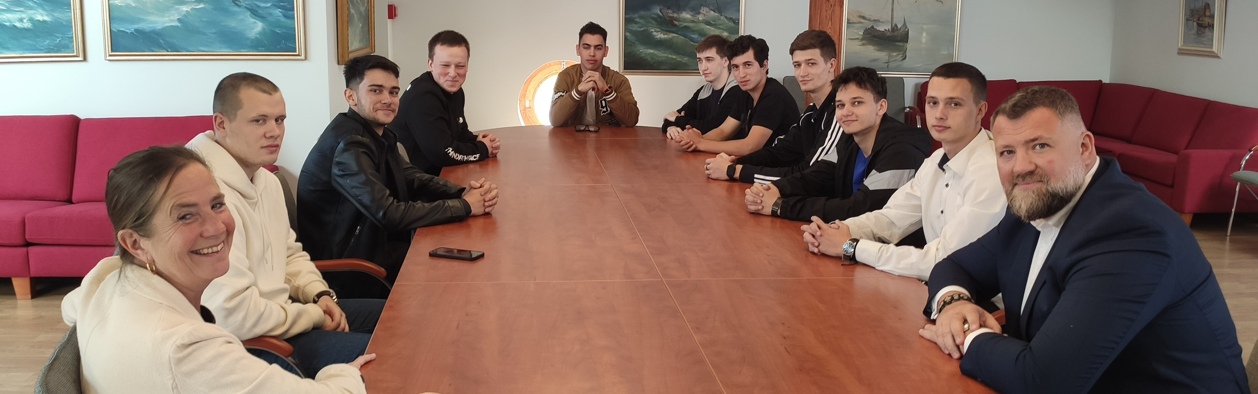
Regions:
<svg viewBox="0 0 1258 394"><path fill-rule="evenodd" d="M742 10L742 0L620 0L620 72L694 76L694 45L741 35Z"/></svg>

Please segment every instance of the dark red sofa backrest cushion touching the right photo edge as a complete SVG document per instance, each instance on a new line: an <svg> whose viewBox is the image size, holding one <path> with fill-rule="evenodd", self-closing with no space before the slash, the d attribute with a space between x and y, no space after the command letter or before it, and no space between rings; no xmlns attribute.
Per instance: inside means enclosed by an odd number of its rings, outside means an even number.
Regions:
<svg viewBox="0 0 1258 394"><path fill-rule="evenodd" d="M1240 149L1258 145L1258 108L1211 101L1188 149Z"/></svg>

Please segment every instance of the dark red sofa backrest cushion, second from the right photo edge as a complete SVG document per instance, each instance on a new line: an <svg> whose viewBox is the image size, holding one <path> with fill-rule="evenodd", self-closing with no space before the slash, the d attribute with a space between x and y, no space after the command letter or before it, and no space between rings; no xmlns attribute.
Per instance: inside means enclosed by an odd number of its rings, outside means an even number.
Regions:
<svg viewBox="0 0 1258 394"><path fill-rule="evenodd" d="M1136 132L1131 135L1131 144L1179 154L1193 140L1193 132L1201 123L1209 103L1205 98L1155 92Z"/></svg>

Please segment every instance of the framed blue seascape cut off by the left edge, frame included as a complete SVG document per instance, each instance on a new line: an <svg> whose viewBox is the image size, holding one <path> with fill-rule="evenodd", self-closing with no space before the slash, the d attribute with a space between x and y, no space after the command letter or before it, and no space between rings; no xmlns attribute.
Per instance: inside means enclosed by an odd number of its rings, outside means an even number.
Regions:
<svg viewBox="0 0 1258 394"><path fill-rule="evenodd" d="M0 0L0 63L87 59L79 0Z"/></svg>

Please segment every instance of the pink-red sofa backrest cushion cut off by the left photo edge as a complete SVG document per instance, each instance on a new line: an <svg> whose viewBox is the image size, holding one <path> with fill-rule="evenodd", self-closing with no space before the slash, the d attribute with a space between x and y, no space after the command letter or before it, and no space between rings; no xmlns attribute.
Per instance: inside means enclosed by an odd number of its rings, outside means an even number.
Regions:
<svg viewBox="0 0 1258 394"><path fill-rule="evenodd" d="M0 116L0 200L68 201L78 126L73 115Z"/></svg>

